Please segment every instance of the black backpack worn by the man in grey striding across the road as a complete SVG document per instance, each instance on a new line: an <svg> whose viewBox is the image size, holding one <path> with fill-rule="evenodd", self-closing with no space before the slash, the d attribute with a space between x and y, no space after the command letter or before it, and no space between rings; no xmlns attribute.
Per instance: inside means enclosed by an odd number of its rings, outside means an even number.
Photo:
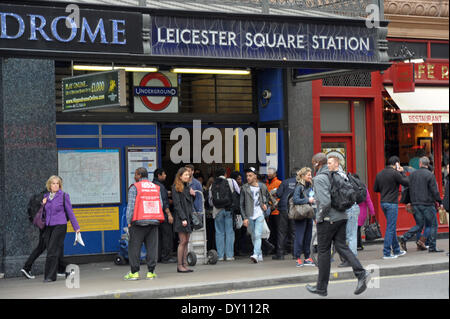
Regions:
<svg viewBox="0 0 450 319"><path fill-rule="evenodd" d="M356 202L356 191L350 181L346 180L338 172L329 172L331 207L340 212L345 212Z"/></svg>

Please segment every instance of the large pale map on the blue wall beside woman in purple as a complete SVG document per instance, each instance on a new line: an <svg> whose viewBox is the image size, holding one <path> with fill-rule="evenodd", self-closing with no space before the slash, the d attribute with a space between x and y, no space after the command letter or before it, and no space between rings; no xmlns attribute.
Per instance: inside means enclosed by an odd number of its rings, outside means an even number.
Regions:
<svg viewBox="0 0 450 319"><path fill-rule="evenodd" d="M119 149L58 150L58 175L72 205L120 204Z"/></svg>

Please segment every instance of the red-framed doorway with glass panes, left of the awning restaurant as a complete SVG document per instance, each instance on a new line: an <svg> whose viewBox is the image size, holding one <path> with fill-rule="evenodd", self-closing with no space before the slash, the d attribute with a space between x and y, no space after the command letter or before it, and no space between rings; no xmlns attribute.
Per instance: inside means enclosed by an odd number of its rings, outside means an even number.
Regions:
<svg viewBox="0 0 450 319"><path fill-rule="evenodd" d="M384 229L373 184L384 168L383 89L379 72L332 77L312 82L314 153L334 154L345 170L358 173L373 200Z"/></svg>

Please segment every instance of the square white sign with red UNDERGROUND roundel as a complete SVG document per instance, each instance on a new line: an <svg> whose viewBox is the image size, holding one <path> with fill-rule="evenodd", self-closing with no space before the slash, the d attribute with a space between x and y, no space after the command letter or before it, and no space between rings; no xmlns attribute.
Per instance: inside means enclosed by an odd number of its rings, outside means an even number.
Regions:
<svg viewBox="0 0 450 319"><path fill-rule="evenodd" d="M133 95L135 113L178 113L178 75L134 73Z"/></svg>

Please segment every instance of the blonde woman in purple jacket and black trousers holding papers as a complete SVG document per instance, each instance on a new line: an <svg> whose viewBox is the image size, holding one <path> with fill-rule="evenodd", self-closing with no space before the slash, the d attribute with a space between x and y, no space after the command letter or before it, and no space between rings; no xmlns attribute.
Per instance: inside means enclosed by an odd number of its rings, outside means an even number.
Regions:
<svg viewBox="0 0 450 319"><path fill-rule="evenodd" d="M77 233L80 232L80 226L73 213L69 195L62 191L61 178L51 176L46 186L49 193L45 194L42 201L45 209L44 240L47 247L44 282L51 282L56 281L57 273L64 274L66 272L66 263L63 258L67 221L70 219L73 229ZM65 200L63 196L65 196Z"/></svg>

